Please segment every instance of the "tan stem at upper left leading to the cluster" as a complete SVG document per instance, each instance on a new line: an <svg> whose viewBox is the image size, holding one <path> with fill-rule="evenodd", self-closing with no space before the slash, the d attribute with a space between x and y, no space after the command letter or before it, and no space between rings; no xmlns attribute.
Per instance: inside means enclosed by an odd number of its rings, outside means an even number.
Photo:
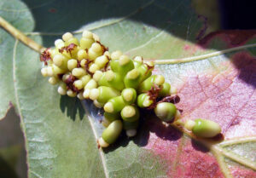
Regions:
<svg viewBox="0 0 256 178"><path fill-rule="evenodd" d="M43 46L36 43L31 38L26 37L25 34L23 34L18 29L16 29L15 26L10 25L9 22L4 20L1 16L0 16L0 26L2 26L3 29L5 29L7 32L9 32L16 39L20 40L20 42L26 44L28 47L37 51L38 53L43 52L43 50L45 49Z"/></svg>

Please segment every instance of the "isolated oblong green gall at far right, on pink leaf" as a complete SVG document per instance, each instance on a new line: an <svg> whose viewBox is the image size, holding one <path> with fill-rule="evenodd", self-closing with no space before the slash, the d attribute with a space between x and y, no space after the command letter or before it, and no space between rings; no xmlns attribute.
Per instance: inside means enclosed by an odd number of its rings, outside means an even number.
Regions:
<svg viewBox="0 0 256 178"><path fill-rule="evenodd" d="M221 132L221 128L218 123L211 120L197 118L192 132L199 137L211 138L218 135Z"/></svg>

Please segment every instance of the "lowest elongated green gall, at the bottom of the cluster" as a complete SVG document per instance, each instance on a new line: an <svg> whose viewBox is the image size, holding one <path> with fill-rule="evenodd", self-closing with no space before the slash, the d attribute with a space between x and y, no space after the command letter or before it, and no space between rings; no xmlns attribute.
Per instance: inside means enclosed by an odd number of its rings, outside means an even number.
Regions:
<svg viewBox="0 0 256 178"><path fill-rule="evenodd" d="M108 128L105 129L102 133L102 139L108 144L112 144L117 140L121 131L123 129L123 123L120 120L115 120L108 125Z"/></svg>

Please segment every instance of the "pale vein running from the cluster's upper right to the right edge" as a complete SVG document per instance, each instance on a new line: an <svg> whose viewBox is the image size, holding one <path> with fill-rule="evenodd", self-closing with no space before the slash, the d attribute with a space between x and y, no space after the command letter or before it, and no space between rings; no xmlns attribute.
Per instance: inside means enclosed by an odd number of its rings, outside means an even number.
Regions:
<svg viewBox="0 0 256 178"><path fill-rule="evenodd" d="M154 60L155 64L179 64L179 63L185 63L185 62L192 62L192 61L196 61L196 60L205 60L207 58L210 57L214 57L217 55L224 55L226 53L230 53L236 50L240 50L240 49L248 49L248 48L253 48L256 47L256 43L253 44L247 44L247 45L243 45L243 46L239 46L239 47L235 47L235 48L231 48L231 49L224 49L221 51L216 51L207 55L198 55L198 56L193 56L193 57L187 57L187 58L181 58L181 59L166 59L166 60Z"/></svg>

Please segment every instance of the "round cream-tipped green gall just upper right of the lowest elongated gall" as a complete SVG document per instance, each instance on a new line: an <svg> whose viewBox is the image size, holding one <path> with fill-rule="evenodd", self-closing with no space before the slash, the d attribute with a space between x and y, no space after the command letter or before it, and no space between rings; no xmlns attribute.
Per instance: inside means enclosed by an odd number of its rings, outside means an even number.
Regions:
<svg viewBox="0 0 256 178"><path fill-rule="evenodd" d="M125 106L121 111L121 117L127 122L134 122L139 119L140 112L137 106Z"/></svg>

